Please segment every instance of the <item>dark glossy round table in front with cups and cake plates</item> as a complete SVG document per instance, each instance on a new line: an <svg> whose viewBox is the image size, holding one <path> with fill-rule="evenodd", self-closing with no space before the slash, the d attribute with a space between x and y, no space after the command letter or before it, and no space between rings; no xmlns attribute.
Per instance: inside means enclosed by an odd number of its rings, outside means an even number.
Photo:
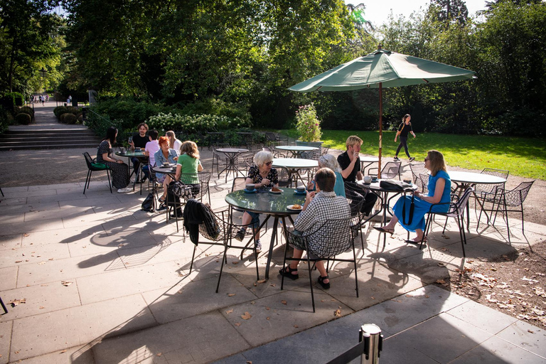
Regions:
<svg viewBox="0 0 546 364"><path fill-rule="evenodd" d="M259 228L261 229L267 220L273 216L273 230L271 234L271 242L269 244L269 252L267 253L267 265L265 267L265 279L269 279L269 265L273 255L273 246L275 237L277 236L277 225L279 225L279 218L282 219L282 227L286 228L286 218L290 215L299 214L299 210L289 210L289 205L304 205L305 194L298 194L294 188L281 188L282 193L247 193L244 190L234 191L228 193L225 196L225 202L234 208L241 210L252 211L255 213L263 213L267 215L267 218L263 221ZM285 236L287 236L285 234Z"/></svg>

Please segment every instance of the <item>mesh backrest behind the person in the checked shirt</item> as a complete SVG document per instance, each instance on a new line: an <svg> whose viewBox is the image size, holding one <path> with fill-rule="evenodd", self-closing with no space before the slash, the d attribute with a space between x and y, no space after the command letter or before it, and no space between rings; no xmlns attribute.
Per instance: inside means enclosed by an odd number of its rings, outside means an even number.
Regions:
<svg viewBox="0 0 546 364"><path fill-rule="evenodd" d="M309 252L318 257L333 257L345 252L353 243L353 234L350 230L352 219L326 220L311 234L304 233Z"/></svg>

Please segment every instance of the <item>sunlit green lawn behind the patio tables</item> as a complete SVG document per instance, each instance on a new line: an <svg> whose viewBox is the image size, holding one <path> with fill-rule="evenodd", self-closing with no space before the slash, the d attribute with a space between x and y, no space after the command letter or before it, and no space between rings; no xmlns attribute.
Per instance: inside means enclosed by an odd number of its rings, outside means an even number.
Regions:
<svg viewBox="0 0 546 364"><path fill-rule="evenodd" d="M297 137L295 130L278 130L290 137ZM379 132L355 132L350 130L323 130L322 141L333 149L345 150L349 135L358 135L363 140L362 153L378 155ZM410 154L422 161L429 149L444 154L448 166L478 169L507 169L510 175L526 178L546 179L546 142L542 139L489 137L482 135L456 135L437 133L416 133L410 135ZM382 156L395 155L398 143L395 132L383 132ZM407 158L404 149L399 156Z"/></svg>

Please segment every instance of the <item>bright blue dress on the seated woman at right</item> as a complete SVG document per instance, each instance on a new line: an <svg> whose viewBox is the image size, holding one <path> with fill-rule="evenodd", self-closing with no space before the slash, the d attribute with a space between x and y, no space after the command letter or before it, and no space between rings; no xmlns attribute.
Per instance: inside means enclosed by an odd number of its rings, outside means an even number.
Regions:
<svg viewBox="0 0 546 364"><path fill-rule="evenodd" d="M445 171L438 171L438 173L436 173L436 176L429 176L429 193L427 194L427 196L434 196L434 191L436 190L436 182L438 181L438 178L444 178L446 180L444 193L442 193L441 195L440 203L448 203L451 201L451 178L449 178L449 174L447 174ZM402 225L402 228L405 228L406 230L411 232L415 232L416 229L424 230L424 215L427 215L430 210L430 206L432 206L432 203L424 201L421 198L415 196L415 207L413 210L412 223L410 225L406 225L404 224L404 221L402 219L402 208L404 207L404 199L406 200L406 220L410 216L410 205L412 203L412 196L399 198L396 201L394 207L395 216L398 218L398 223ZM447 210L449 210L449 205L437 205L432 208L432 211L437 213L446 213Z"/></svg>

